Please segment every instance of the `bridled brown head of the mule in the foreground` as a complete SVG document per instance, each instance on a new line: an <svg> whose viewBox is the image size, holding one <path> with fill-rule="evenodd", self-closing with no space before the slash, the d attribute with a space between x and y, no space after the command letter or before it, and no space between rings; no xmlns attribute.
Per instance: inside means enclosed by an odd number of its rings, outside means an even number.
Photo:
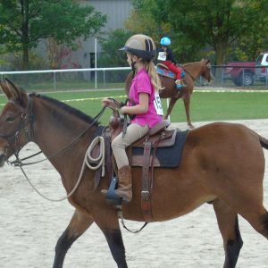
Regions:
<svg viewBox="0 0 268 268"><path fill-rule="evenodd" d="M29 96L10 80L0 81L7 103L0 114L0 166L29 140Z"/></svg>

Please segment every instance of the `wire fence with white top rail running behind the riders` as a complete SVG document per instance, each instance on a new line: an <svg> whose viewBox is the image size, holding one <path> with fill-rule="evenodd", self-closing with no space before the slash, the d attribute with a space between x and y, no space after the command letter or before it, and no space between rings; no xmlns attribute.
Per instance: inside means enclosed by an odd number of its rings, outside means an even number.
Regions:
<svg viewBox="0 0 268 268"><path fill-rule="evenodd" d="M212 66L212 72L216 74L216 80L210 85L205 80L196 80L196 86L206 85L209 88L258 88L268 90L268 68L256 66ZM262 68L264 77L262 80L255 75ZM240 71L239 71L240 69ZM86 68L66 70L44 71L0 71L0 79L7 77L15 83L29 90L79 90L79 89L106 89L124 88L124 80L130 71L130 67L113 68Z"/></svg>

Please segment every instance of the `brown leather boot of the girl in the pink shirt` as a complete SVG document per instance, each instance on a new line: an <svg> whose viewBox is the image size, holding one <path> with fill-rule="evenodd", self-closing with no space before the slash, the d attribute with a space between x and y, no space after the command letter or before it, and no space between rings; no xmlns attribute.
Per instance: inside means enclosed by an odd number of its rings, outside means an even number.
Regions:
<svg viewBox="0 0 268 268"><path fill-rule="evenodd" d="M132 173L129 165L125 165L118 170L118 188L114 191L121 201L129 203L132 199ZM107 190L101 190L103 195Z"/></svg>

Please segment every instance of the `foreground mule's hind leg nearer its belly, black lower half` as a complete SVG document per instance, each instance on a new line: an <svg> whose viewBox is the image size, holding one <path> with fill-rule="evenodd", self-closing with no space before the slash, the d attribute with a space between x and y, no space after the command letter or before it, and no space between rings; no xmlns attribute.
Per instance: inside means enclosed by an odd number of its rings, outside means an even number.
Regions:
<svg viewBox="0 0 268 268"><path fill-rule="evenodd" d="M236 266L240 249L243 246L239 231L238 214L220 199L214 200L213 205L219 229L222 233L225 251L223 267L232 268Z"/></svg>

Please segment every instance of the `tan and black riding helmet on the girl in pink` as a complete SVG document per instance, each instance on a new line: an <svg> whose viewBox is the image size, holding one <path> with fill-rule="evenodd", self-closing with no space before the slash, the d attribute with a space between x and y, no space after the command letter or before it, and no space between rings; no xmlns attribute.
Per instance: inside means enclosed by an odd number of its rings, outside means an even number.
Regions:
<svg viewBox="0 0 268 268"><path fill-rule="evenodd" d="M138 57L151 61L155 58L156 47L152 38L146 35L138 34L134 35L126 42L120 50L130 52L130 54L136 54Z"/></svg>

